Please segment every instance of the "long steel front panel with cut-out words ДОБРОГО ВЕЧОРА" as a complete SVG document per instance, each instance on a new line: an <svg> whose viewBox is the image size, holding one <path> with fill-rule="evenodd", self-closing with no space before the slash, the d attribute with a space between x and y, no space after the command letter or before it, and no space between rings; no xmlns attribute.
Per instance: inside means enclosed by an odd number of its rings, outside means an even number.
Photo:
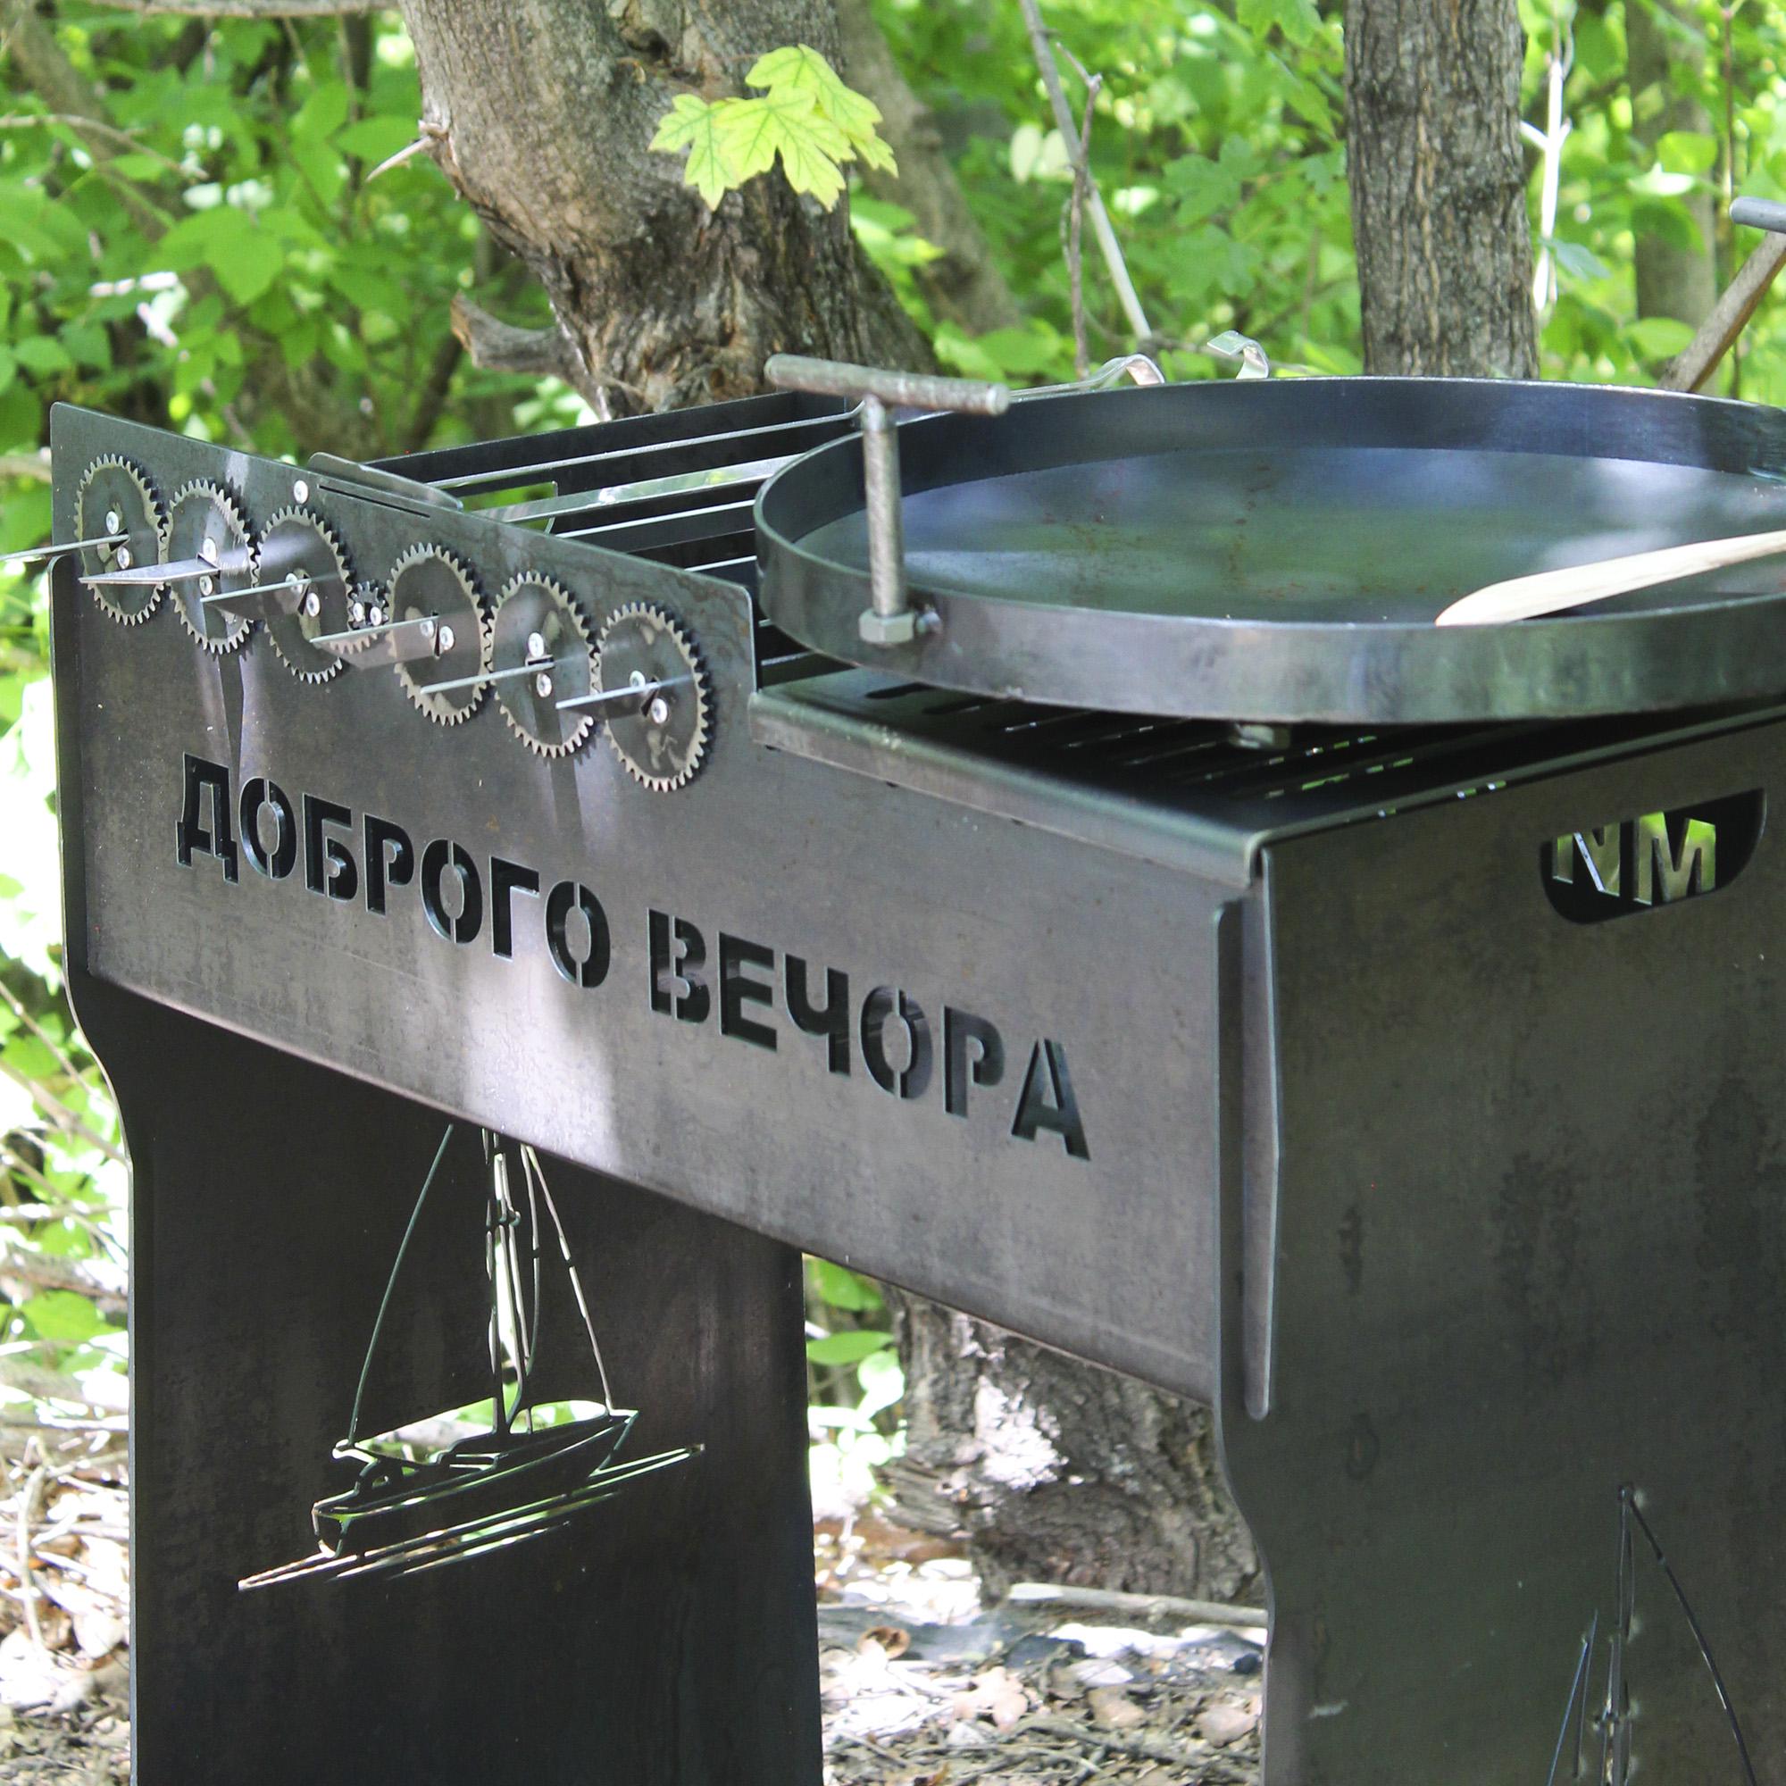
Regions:
<svg viewBox="0 0 1786 1786"><path fill-rule="evenodd" d="M88 441L75 430L82 459L130 434L75 423L91 430ZM223 463L198 443L152 441L164 488ZM291 500L291 468L241 455L229 468L255 525ZM68 538L70 479L59 502ZM748 607L729 586L618 557L597 577L575 548L516 543L466 516L350 498L330 498L327 514L363 579L429 538L472 557L486 593L523 566L548 568L597 622L622 600L668 598L714 682L705 770L652 795L602 738L541 761L493 700L438 729L391 670L300 686L263 629L241 655L207 657L166 604L120 627L64 566L57 693L64 816L79 830L66 848L80 854L77 959L245 1036L1207 1398L1207 936L1231 889L752 743ZM350 807L357 898L305 886L302 836L282 880L245 850L239 884L204 854L182 868L184 754L223 764L238 793L268 777L293 805L314 795ZM414 882L391 888L388 914L368 909L368 813L402 825L418 855L436 838L472 854L486 900L472 943L436 934ZM536 870L541 895L570 879L597 895L611 929L600 986L572 986L554 966L541 897L513 897L513 959L493 954L491 855ZM702 934L700 1023L652 1009L654 909ZM770 1004L741 1006L772 1027L773 1048L722 1034L722 932L773 950L773 970L748 970L773 988ZM809 964L814 998L825 968L848 975L847 1075L827 1072L825 1041L789 1020L789 954ZM864 1068L859 1016L879 986L904 989L929 1025L932 1070L911 1098ZM945 1113L945 1004L989 1020L1006 1048L1002 1082L970 1084L966 1116ZM1064 1052L1089 1159L1047 1129L1013 1134L1043 1039Z"/></svg>

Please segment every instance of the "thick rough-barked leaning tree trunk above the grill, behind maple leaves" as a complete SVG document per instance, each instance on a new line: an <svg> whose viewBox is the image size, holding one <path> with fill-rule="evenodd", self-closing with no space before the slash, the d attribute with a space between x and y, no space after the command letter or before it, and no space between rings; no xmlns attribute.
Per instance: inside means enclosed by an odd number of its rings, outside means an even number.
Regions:
<svg viewBox="0 0 1786 1786"><path fill-rule="evenodd" d="M766 50L838 57L827 0L404 0L423 134L491 232L538 275L618 411L763 388L770 354L879 364L929 355L863 261L843 205L779 170L716 213L647 145L677 93L743 91Z"/></svg>

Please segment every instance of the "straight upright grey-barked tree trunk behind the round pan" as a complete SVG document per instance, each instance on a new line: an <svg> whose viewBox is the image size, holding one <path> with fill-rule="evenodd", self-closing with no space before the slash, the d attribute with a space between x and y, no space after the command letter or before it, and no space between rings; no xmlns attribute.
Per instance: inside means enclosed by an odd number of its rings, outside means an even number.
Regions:
<svg viewBox="0 0 1786 1786"><path fill-rule="evenodd" d="M1347 0L1365 370L1538 370L1515 0Z"/></svg>

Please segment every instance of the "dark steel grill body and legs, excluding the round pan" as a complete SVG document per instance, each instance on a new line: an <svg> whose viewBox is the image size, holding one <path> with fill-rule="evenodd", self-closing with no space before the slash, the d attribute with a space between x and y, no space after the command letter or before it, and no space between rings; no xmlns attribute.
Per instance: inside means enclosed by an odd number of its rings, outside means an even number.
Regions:
<svg viewBox="0 0 1786 1786"><path fill-rule="evenodd" d="M602 736L648 713L539 754L502 684L436 727L396 654L311 686L59 563L70 975L136 1172L138 1779L816 1786L797 1247L1214 1404L1266 1786L1538 1786L1595 1618L1597 1756L1623 1490L1777 1766L1786 707L1239 743L847 668L764 616L748 498L848 427L763 398L380 488L57 413L59 539L116 454L255 532L296 500L363 605L427 543L491 604L561 586L604 661L668 614L705 700L657 791ZM243 1595L338 1484L439 1113L559 1163L641 1448L705 1448L505 1559ZM454 1295L395 1331L429 1406ZM1611 1734L1736 1779L1645 1568Z"/></svg>

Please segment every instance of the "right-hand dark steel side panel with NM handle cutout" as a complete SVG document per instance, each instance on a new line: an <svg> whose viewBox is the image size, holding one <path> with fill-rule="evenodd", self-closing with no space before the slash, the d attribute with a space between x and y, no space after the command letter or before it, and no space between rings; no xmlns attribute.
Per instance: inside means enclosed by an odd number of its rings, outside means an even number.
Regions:
<svg viewBox="0 0 1786 1786"><path fill-rule="evenodd" d="M1773 811L1718 891L1552 909L1548 839L1750 789ZM1595 1616L1597 1754L1622 1486L1777 1766L1782 798L1768 727L1266 852L1272 1411L1223 1413L1272 1581L1266 1786L1543 1781ZM1638 1766L1738 1779L1641 1536L1636 1595Z"/></svg>

